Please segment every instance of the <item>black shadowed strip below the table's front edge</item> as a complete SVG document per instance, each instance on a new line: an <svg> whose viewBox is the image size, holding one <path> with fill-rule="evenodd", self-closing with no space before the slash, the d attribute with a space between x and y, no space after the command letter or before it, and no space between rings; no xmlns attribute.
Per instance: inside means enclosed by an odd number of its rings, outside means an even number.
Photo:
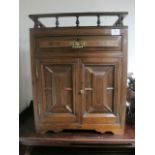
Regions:
<svg viewBox="0 0 155 155"><path fill-rule="evenodd" d="M22 152L23 151L23 152ZM33 147L24 154L24 148L20 155L134 155L134 149L126 148L51 148Z"/></svg>

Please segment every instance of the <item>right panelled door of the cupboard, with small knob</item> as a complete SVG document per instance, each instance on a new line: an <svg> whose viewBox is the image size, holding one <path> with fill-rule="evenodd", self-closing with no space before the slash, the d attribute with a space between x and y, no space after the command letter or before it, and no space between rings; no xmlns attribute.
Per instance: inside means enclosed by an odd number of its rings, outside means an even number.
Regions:
<svg viewBox="0 0 155 155"><path fill-rule="evenodd" d="M121 111L121 59L81 59L83 124L119 124Z"/></svg>

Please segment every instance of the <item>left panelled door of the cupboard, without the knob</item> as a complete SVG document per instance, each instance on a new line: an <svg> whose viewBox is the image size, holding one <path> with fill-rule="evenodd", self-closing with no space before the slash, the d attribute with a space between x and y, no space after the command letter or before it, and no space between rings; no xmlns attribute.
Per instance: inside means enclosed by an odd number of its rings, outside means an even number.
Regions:
<svg viewBox="0 0 155 155"><path fill-rule="evenodd" d="M76 122L75 60L41 60L39 73L42 121L46 123Z"/></svg>

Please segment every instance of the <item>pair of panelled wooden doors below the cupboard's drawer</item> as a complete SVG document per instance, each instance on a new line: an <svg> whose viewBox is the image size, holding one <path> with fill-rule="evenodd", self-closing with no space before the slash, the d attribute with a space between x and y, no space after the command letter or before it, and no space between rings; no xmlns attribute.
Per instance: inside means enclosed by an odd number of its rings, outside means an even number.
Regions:
<svg viewBox="0 0 155 155"><path fill-rule="evenodd" d="M37 61L44 123L119 124L121 58Z"/></svg>

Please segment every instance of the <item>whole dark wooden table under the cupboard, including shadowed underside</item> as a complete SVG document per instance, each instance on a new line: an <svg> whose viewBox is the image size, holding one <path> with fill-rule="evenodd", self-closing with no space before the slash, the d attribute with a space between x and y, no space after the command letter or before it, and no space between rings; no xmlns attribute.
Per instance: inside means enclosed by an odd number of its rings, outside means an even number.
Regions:
<svg viewBox="0 0 155 155"><path fill-rule="evenodd" d="M20 155L134 155L134 125L125 134L99 134L94 131L63 131L40 135L35 132L32 104L20 115Z"/></svg>

